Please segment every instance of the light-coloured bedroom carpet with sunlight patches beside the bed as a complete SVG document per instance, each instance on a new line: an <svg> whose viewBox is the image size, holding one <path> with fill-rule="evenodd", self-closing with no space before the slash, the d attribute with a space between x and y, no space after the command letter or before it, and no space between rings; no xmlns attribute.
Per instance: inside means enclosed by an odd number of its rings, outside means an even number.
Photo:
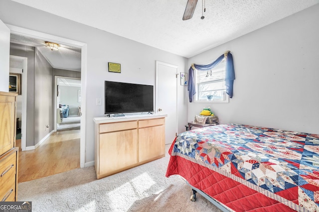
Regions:
<svg viewBox="0 0 319 212"><path fill-rule="evenodd" d="M199 194L191 202L179 176L165 177L168 159L100 180L91 166L19 183L18 201L32 201L32 212L220 212Z"/></svg>

